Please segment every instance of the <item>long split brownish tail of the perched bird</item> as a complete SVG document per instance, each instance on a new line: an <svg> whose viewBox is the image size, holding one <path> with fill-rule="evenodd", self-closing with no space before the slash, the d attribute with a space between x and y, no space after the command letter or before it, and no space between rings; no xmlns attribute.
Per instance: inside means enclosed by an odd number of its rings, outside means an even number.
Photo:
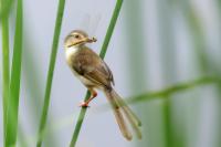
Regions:
<svg viewBox="0 0 221 147"><path fill-rule="evenodd" d="M139 127L141 126L141 122L138 119L138 117L134 114L134 112L127 106L127 104L124 102L124 99L115 92L114 88L112 90L105 90L107 99L109 101L114 114L116 117L116 120L119 125L119 129L122 134L125 136L126 139L130 140L133 138L130 132L128 130L128 127L124 120L124 116L128 119L130 123L134 132L136 133L136 136L141 139L141 133ZM122 114L123 113L123 114Z"/></svg>

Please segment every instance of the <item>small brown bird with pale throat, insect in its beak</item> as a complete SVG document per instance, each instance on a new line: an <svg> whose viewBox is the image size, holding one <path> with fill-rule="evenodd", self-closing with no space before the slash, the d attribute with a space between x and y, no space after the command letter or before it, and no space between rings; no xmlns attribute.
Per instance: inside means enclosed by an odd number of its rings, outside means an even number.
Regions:
<svg viewBox="0 0 221 147"><path fill-rule="evenodd" d="M141 123L113 88L114 77L112 71L94 51L85 45L92 42L96 42L96 39L90 39L88 35L81 30L72 31L64 42L69 66L72 69L74 75L76 75L91 92L88 101L82 103L81 106L87 107L90 102L97 96L95 90L102 90L114 109L117 124L124 137L128 140L133 138L124 119L127 118L137 137L141 138L141 133L139 130Z"/></svg>

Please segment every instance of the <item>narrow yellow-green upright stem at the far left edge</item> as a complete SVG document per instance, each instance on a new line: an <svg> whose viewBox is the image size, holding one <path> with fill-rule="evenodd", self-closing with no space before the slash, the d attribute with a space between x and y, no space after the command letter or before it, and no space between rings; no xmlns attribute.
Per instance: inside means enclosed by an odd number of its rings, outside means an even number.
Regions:
<svg viewBox="0 0 221 147"><path fill-rule="evenodd" d="M0 1L0 8L6 7L7 1ZM7 140L7 111L9 101L9 82L10 82L10 70L9 70L9 22L8 17L3 17L1 20L2 30L2 104L3 104L3 144L6 147Z"/></svg>

